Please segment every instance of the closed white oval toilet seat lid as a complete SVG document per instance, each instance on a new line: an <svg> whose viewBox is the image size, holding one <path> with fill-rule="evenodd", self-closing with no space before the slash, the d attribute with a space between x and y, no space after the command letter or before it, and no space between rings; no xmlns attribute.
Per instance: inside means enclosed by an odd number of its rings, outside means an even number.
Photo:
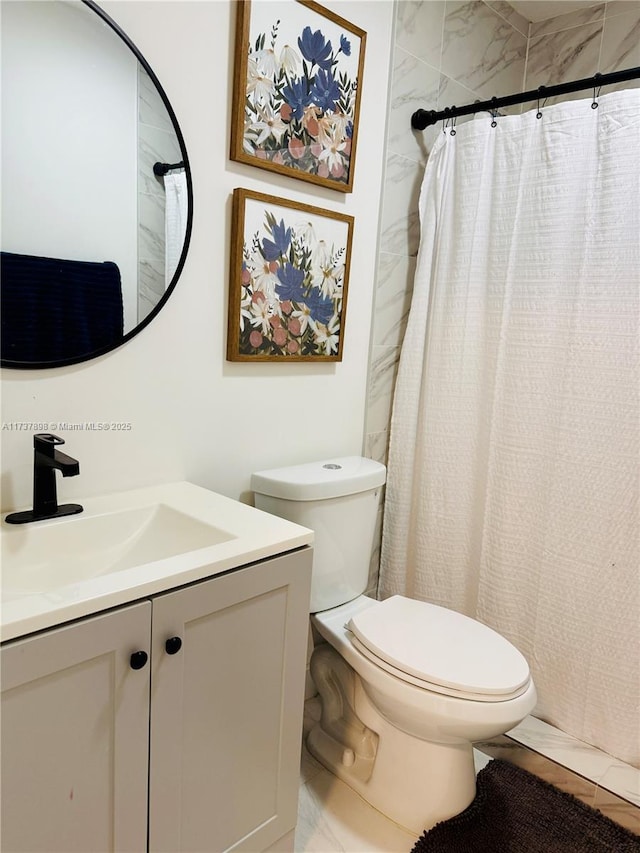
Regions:
<svg viewBox="0 0 640 853"><path fill-rule="evenodd" d="M349 630L394 674L499 701L529 683L529 666L491 628L454 610L395 595L353 616ZM388 668L388 667L385 667Z"/></svg>

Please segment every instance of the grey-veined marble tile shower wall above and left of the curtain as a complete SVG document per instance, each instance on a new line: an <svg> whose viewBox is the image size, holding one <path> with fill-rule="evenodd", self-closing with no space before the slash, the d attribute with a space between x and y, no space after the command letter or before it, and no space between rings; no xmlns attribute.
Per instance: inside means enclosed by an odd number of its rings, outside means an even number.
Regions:
<svg viewBox="0 0 640 853"><path fill-rule="evenodd" d="M429 151L442 132L413 131L412 113L640 66L640 0L595 4L531 25L505 0L398 0L395 28L364 445L365 454L381 462L411 302L418 196ZM378 553L376 547L370 593Z"/></svg>

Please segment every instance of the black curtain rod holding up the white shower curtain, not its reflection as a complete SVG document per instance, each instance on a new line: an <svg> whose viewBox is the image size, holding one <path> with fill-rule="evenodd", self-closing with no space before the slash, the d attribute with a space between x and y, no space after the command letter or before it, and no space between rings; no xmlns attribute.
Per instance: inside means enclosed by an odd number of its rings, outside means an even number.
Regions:
<svg viewBox="0 0 640 853"><path fill-rule="evenodd" d="M457 118L479 112L495 112L500 107L510 107L513 104L524 104L527 101L538 101L551 98L554 95L565 95L568 92L579 92L581 89L599 89L612 83L622 83L625 80L640 78L640 68L626 68L624 71L613 71L610 74L594 74L582 80L572 80L569 83L559 83L557 86L540 86L528 92L517 92L515 95L505 95L503 98L491 98L490 101L477 101L464 107L447 107L444 110L416 110L411 116L411 127L414 130L424 130L440 119Z"/></svg>

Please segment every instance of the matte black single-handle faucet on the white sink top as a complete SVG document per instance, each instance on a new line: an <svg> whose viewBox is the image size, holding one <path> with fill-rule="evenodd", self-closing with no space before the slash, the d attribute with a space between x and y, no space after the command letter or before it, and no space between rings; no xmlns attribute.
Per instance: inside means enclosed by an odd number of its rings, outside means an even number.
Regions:
<svg viewBox="0 0 640 853"><path fill-rule="evenodd" d="M9 524L24 524L82 512L80 504L58 506L56 469L63 477L75 477L80 473L78 460L56 449L60 444L64 444L64 440L48 432L39 432L33 436L33 509L12 512L5 518Z"/></svg>

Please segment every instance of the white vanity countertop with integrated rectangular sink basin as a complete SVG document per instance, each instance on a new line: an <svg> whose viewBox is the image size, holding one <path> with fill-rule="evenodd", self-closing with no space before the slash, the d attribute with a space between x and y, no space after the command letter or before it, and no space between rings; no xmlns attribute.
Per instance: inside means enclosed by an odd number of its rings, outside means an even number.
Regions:
<svg viewBox="0 0 640 853"><path fill-rule="evenodd" d="M305 527L192 483L76 501L78 515L3 520L3 641L313 541Z"/></svg>

